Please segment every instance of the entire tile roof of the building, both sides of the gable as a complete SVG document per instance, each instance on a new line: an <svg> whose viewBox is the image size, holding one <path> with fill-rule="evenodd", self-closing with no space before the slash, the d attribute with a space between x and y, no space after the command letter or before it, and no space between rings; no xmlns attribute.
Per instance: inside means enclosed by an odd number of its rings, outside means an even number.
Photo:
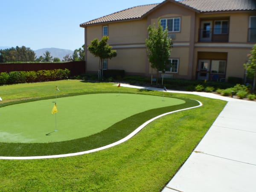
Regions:
<svg viewBox="0 0 256 192"><path fill-rule="evenodd" d="M129 9L115 12L98 19L90 20L80 24L81 27L108 23L121 20L133 20L143 18L148 12L152 11L157 6L160 6L166 1L180 3L183 6L194 9L199 12L224 12L224 11L253 11L256 10L256 0L165 0L162 3L150 5L136 6Z"/></svg>

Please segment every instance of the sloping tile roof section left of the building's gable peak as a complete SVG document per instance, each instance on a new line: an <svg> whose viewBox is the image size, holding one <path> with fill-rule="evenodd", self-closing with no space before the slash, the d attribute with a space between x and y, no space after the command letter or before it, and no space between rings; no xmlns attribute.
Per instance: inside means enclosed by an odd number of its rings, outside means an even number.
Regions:
<svg viewBox="0 0 256 192"><path fill-rule="evenodd" d="M156 7L158 4L159 3L132 7L132 8L120 11L120 12L116 12L116 13L113 13L110 15L106 15L104 17L100 17L98 19L90 20L86 23L80 24L80 26L82 27L82 26L98 24L98 23L108 23L108 22L113 22L113 21L142 18L143 15L145 15L151 9L154 9L154 7Z"/></svg>

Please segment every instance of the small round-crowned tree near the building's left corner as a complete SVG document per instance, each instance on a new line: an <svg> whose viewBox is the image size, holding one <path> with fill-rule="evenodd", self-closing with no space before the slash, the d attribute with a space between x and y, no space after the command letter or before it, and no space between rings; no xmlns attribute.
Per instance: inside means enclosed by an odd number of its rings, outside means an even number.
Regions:
<svg viewBox="0 0 256 192"><path fill-rule="evenodd" d="M103 36L102 40L99 41L98 38L91 41L91 44L88 46L88 50L95 57L99 57L99 71L98 79L102 78L102 65L104 59L111 59L116 57L116 50L112 49L112 46L107 44L108 36Z"/></svg>

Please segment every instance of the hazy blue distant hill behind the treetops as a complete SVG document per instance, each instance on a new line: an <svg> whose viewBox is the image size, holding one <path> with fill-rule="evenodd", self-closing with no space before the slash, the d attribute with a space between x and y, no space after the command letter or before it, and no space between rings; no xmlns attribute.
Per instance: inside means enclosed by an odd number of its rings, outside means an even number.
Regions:
<svg viewBox="0 0 256 192"><path fill-rule="evenodd" d="M70 56L73 55L73 51L69 49L44 48L44 49L35 50L35 56L37 58L40 56L44 57L44 53L46 51L49 51L51 53L52 58L58 57L61 59L61 61L65 55L68 55L68 54L70 54Z"/></svg>

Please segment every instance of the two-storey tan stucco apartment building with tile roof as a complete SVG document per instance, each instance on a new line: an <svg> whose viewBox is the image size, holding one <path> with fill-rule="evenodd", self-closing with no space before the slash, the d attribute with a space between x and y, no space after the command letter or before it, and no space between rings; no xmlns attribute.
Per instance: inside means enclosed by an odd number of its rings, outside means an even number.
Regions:
<svg viewBox="0 0 256 192"><path fill-rule="evenodd" d="M164 0L136 6L82 23L84 43L103 35L117 56L104 69L151 76L145 39L149 25L168 29L173 48L167 76L177 79L244 78L243 64L256 44L256 0ZM85 51L87 72L97 73L99 59ZM154 72L154 71L153 71ZM155 72L154 72L155 73Z"/></svg>

